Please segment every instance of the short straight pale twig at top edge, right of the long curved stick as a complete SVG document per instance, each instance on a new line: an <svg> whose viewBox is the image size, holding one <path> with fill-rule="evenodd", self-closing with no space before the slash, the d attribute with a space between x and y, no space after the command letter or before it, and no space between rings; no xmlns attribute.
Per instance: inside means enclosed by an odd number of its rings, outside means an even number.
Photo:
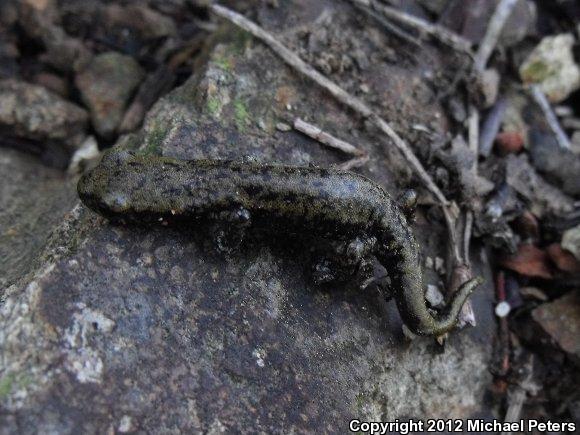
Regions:
<svg viewBox="0 0 580 435"><path fill-rule="evenodd" d="M456 33L445 29L437 24L429 23L420 18L414 17L412 15L401 12L390 6L378 4L372 0L352 0L356 3L362 4L364 6L370 6L374 10L381 12L385 17L397 21L398 23L409 26L417 31L421 35L429 35L443 42L444 44L452 47L457 51L461 51L473 55L471 50L471 42L467 39L457 35Z"/></svg>

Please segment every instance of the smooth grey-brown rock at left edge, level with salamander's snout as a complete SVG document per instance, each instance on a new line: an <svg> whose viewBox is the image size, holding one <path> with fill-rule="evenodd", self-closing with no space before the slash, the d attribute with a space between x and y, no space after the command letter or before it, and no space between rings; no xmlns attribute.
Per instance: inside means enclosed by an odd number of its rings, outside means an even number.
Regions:
<svg viewBox="0 0 580 435"><path fill-rule="evenodd" d="M38 267L50 232L76 201L74 183L61 171L0 148L0 297Z"/></svg>

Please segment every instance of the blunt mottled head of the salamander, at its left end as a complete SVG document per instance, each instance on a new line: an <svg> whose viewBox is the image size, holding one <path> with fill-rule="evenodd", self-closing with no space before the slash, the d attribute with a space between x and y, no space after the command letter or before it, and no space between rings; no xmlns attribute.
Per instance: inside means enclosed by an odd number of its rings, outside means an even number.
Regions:
<svg viewBox="0 0 580 435"><path fill-rule="evenodd" d="M83 203L105 216L126 212L130 187L123 166L133 158L129 151L106 151L99 165L79 180L77 191Z"/></svg>

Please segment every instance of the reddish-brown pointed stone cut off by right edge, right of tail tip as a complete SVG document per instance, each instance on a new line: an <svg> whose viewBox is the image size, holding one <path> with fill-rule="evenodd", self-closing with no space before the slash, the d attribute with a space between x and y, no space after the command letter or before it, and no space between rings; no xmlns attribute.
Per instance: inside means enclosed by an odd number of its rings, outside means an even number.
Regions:
<svg viewBox="0 0 580 435"><path fill-rule="evenodd" d="M580 291L541 305L532 317L564 352L580 360Z"/></svg>

